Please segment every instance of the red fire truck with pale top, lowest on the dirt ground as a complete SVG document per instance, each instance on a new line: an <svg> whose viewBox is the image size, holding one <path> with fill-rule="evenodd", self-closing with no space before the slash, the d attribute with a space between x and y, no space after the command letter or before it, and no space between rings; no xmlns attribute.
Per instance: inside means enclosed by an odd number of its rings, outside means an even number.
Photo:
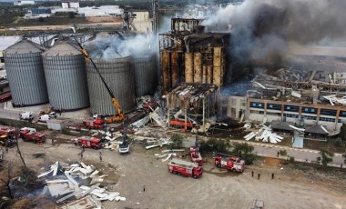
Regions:
<svg viewBox="0 0 346 209"><path fill-rule="evenodd" d="M173 158L168 163L168 172L193 177L196 179L202 176L203 168L197 163L191 163L178 158Z"/></svg>

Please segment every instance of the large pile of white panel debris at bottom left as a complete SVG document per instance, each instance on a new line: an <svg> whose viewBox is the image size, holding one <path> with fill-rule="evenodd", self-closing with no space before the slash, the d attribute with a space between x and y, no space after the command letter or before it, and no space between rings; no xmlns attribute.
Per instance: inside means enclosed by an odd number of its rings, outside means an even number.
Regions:
<svg viewBox="0 0 346 209"><path fill-rule="evenodd" d="M48 174L52 175L48 177ZM71 208L67 205L84 204L92 204L90 208L101 208L101 201L126 200L118 192L108 192L107 188L99 187L107 174L99 175L99 171L94 166L86 165L82 162L79 164L66 164L56 161L55 164L49 167L49 171L39 174L37 177L41 178L44 176L46 176L46 186L43 189L42 195L49 192L52 197L59 197L56 200L57 204L63 203L72 197L76 198L76 201L60 208Z"/></svg>

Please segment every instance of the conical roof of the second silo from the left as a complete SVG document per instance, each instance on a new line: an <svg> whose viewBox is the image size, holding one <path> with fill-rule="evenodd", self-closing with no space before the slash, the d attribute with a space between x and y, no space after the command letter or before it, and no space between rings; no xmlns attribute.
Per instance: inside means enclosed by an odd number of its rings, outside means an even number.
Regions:
<svg viewBox="0 0 346 209"><path fill-rule="evenodd" d="M52 48L46 50L42 55L44 56L66 56L66 55L81 55L80 50L75 45L67 41L60 41Z"/></svg>

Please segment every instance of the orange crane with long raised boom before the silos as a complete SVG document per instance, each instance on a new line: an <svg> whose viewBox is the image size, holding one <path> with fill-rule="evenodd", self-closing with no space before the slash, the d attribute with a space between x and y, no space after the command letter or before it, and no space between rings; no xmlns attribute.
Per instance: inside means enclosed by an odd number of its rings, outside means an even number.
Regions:
<svg viewBox="0 0 346 209"><path fill-rule="evenodd" d="M120 104L117 102L117 98L116 96L114 95L112 89L110 89L110 87L107 85L107 82L105 80L105 78L101 75L101 73L99 72L98 68L97 68L97 65L94 63L93 59L90 57L90 55L87 54L86 52L86 49L83 48L83 46L81 44L79 44L79 42L76 40L76 37L74 35L72 35L73 38L75 39L76 41L76 44L80 47L80 51L83 55L86 56L86 59L88 61L91 62L91 64L94 66L95 70L97 71L97 74L99 75L99 77L101 78L101 81L102 83L106 86L106 89L107 89L107 92L108 94L110 95L110 97L112 98L112 104L114 105L114 107L116 107L116 110L117 110L117 113L111 117L107 117L105 118L105 121L107 124L112 124L112 123L119 123L119 122L122 122L124 121L125 119L125 115L123 113L123 111L121 110L121 106Z"/></svg>

